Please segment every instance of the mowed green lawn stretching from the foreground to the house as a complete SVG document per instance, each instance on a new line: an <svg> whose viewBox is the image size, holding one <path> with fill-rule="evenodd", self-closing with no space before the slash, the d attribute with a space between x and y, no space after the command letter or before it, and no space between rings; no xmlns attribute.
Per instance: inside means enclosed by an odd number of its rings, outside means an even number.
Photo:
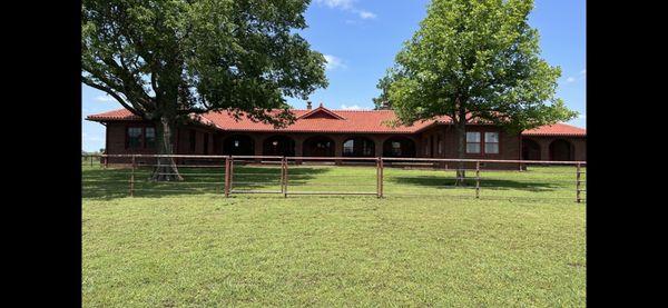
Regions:
<svg viewBox="0 0 668 308"><path fill-rule="evenodd" d="M275 168L235 168L237 190L281 189ZM481 199L450 171L387 168L377 199L224 198L213 170L167 185L140 170L131 198L128 170L82 169L86 307L584 306L572 167L483 172ZM288 191L375 192L373 168L288 178Z"/></svg>

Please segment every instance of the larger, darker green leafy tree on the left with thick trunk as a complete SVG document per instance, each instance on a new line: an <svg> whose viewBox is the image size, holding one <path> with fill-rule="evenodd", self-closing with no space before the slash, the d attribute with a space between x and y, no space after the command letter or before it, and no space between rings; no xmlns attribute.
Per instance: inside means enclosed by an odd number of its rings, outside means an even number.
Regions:
<svg viewBox="0 0 668 308"><path fill-rule="evenodd" d="M324 57L295 30L310 0L85 0L81 79L156 123L157 152L199 113L285 126L285 97L326 87ZM275 110L281 110L276 112ZM154 180L180 179L158 159Z"/></svg>

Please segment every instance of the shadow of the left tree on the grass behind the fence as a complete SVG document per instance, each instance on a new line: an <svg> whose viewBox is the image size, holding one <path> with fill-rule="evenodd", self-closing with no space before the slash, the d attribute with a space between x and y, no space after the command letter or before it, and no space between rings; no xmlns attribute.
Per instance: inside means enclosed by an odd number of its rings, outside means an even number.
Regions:
<svg viewBox="0 0 668 308"><path fill-rule="evenodd" d="M154 182L150 168L135 170L134 197L171 197L216 193L223 195L225 169L179 168L184 181ZM291 169L291 175L308 180L326 172L323 168L301 167ZM130 196L130 168L82 168L82 198L116 199ZM235 166L233 190L281 191L279 167Z"/></svg>

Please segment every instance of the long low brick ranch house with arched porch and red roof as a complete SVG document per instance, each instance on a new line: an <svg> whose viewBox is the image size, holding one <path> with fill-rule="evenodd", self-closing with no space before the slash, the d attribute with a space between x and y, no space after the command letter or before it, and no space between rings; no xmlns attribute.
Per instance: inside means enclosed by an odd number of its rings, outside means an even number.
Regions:
<svg viewBox="0 0 668 308"><path fill-rule="evenodd" d="M238 121L227 112L202 115L176 129L175 153L305 157L455 158L450 118L391 128L392 110L331 110L321 103L293 110L297 120L283 129ZM156 131L126 109L91 115L106 126L108 155L155 153ZM525 160L586 160L584 129L557 123L510 135L490 125L468 126L466 158ZM112 162L112 161L110 161Z"/></svg>

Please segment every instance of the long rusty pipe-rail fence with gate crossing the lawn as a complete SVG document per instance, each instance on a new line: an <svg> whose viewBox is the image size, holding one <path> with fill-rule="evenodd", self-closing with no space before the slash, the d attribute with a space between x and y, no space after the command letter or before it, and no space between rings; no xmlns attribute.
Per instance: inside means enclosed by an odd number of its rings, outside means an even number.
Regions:
<svg viewBox="0 0 668 308"><path fill-rule="evenodd" d="M158 159L171 158L183 181L151 181ZM82 167L101 171L85 177L85 189L136 192L453 196L551 198L586 201L586 161L281 157L203 155L84 155ZM531 167L528 167L531 166ZM540 172L522 172L551 166ZM351 167L356 169L346 169ZM571 169L572 168L572 169ZM386 172L387 171L387 172ZM110 172L110 173L106 173ZM462 176L462 173L473 176ZM373 182L375 180L375 183ZM119 185L126 183L121 189ZM108 185L104 185L108 183ZM460 195L448 195L452 190ZM508 195L508 192L519 195ZM472 192L472 193L471 193ZM572 193L572 195L571 195Z"/></svg>

